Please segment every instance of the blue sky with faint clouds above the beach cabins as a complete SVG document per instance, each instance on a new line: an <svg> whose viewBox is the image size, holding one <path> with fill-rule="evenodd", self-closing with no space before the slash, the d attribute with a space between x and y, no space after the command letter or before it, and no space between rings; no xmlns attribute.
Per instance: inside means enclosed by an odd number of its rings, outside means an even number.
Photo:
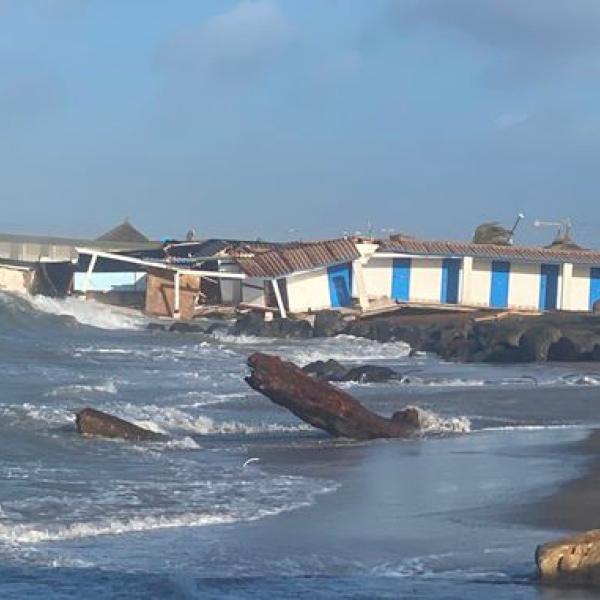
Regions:
<svg viewBox="0 0 600 600"><path fill-rule="evenodd" d="M600 246L598 0L0 0L0 231Z"/></svg>

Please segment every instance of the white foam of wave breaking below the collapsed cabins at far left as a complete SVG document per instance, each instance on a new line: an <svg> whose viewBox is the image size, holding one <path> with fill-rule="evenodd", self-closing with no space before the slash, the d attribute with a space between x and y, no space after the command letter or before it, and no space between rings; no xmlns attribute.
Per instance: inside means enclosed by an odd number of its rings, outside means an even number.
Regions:
<svg viewBox="0 0 600 600"><path fill-rule="evenodd" d="M36 310L54 315L74 317L82 325L100 329L139 329L146 323L141 316L133 316L115 307L80 298L55 299L31 296L30 304Z"/></svg>

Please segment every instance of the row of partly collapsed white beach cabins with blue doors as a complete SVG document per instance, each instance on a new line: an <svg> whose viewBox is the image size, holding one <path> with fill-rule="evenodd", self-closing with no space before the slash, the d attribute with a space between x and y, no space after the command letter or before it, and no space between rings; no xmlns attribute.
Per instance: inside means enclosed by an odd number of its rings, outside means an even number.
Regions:
<svg viewBox="0 0 600 600"><path fill-rule="evenodd" d="M16 237L0 236L0 289L80 295L155 317L191 319L223 306L284 318L397 304L600 310L600 251L578 248L405 236L155 243L128 222L94 241Z"/></svg>

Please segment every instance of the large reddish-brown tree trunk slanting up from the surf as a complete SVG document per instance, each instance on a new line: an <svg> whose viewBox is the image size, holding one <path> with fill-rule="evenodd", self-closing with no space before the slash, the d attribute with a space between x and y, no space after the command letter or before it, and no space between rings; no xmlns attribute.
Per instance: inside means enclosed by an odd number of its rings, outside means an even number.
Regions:
<svg viewBox="0 0 600 600"><path fill-rule="evenodd" d="M248 358L246 383L275 404L335 437L356 440L409 437L420 427L419 411L407 408L385 418L350 394L317 381L295 364L257 352Z"/></svg>

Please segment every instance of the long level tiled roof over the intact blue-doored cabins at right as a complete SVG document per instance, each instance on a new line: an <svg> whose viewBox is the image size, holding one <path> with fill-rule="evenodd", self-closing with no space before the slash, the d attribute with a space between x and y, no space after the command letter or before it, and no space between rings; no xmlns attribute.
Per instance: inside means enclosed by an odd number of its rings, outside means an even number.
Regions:
<svg viewBox="0 0 600 600"><path fill-rule="evenodd" d="M377 252L417 254L423 256L473 256L499 260L524 262L550 262L574 264L599 264L600 251L559 250L537 246L500 246L496 244L472 244L448 241L427 241L412 238L385 240Z"/></svg>

